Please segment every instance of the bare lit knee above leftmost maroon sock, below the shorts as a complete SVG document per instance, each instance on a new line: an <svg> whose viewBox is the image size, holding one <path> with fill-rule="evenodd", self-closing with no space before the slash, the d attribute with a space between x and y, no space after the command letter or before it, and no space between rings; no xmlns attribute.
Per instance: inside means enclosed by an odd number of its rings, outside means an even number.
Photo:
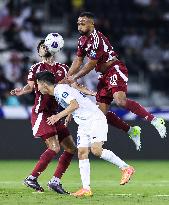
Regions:
<svg viewBox="0 0 169 205"><path fill-rule="evenodd" d="M48 139L45 140L45 143L47 147L56 153L60 151L60 144L58 140L58 135L54 135L52 137L49 137Z"/></svg>

